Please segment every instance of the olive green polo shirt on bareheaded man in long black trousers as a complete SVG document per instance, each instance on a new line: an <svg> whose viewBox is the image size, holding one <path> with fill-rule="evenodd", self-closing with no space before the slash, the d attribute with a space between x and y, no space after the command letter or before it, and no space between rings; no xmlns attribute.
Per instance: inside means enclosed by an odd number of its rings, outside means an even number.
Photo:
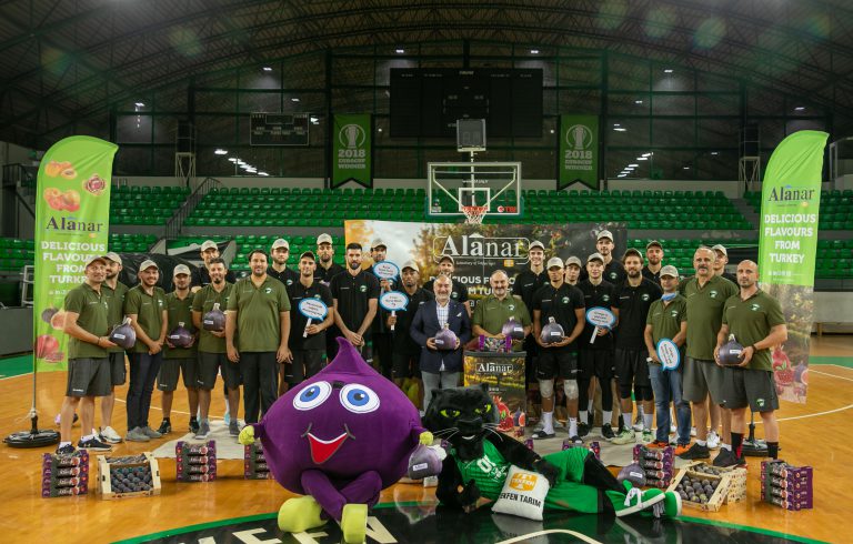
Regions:
<svg viewBox="0 0 853 544"><path fill-rule="evenodd" d="M279 280L269 275L260 288L252 278L243 278L234 284L228 299L228 310L237 311L234 341L239 351L278 351L281 343L281 313L290 311L288 290Z"/></svg>

